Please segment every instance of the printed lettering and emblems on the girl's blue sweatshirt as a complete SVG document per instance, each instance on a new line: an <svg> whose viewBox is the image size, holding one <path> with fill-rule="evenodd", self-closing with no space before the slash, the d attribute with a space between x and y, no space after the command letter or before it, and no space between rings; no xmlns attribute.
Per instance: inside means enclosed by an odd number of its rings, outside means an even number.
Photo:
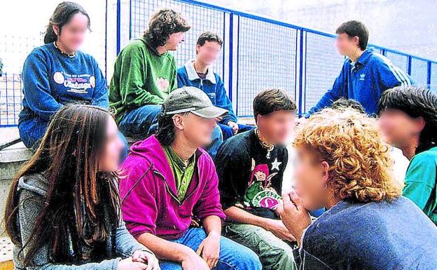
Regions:
<svg viewBox="0 0 437 270"><path fill-rule="evenodd" d="M88 90L95 87L95 76L91 74L55 72L53 81L67 88L67 92L70 93L88 94Z"/></svg>

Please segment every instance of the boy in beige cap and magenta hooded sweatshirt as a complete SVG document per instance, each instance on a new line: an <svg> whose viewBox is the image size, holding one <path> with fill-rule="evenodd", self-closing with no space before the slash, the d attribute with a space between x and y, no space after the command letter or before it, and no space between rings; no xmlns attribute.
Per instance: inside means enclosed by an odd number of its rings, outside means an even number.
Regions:
<svg viewBox="0 0 437 270"><path fill-rule="evenodd" d="M158 133L134 144L121 168L127 229L155 252L163 270L261 269L253 251L221 237L216 170L200 148L226 110L193 87L174 90L162 108ZM197 219L202 227L190 226Z"/></svg>

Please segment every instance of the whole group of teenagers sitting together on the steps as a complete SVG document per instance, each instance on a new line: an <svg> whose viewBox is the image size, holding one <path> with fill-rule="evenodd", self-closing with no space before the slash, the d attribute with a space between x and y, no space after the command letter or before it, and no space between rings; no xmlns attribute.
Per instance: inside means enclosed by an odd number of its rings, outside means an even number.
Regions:
<svg viewBox="0 0 437 270"><path fill-rule="evenodd" d="M435 269L437 95L368 49L361 22L338 27L347 58L309 114L260 90L256 127L211 69L216 34L178 69L190 26L160 10L107 88L78 50L88 29L63 2L25 61L18 127L35 154L6 203L15 269Z"/></svg>

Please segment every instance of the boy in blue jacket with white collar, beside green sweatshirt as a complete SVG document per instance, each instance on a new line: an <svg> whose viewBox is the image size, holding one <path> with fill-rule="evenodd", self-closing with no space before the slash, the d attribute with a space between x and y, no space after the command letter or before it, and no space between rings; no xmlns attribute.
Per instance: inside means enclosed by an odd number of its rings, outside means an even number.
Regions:
<svg viewBox="0 0 437 270"><path fill-rule="evenodd" d="M197 39L196 58L189 60L177 71L178 87L195 86L207 93L214 106L227 109L228 114L221 119L219 126L223 132L223 140L237 133L254 128L237 123L232 103L219 74L213 72L211 65L220 53L223 41L217 34L204 32Z"/></svg>

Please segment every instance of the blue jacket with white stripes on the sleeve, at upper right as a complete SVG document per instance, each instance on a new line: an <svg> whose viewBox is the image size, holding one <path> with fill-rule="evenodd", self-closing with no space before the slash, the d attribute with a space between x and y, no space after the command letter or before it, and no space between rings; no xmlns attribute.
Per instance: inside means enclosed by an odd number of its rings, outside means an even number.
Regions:
<svg viewBox="0 0 437 270"><path fill-rule="evenodd" d="M350 59L345 60L333 88L321 97L307 116L331 106L340 97L356 100L368 114L376 114L377 104L384 90L411 84L414 84L412 78L393 65L388 58L372 50L365 50L355 63Z"/></svg>

